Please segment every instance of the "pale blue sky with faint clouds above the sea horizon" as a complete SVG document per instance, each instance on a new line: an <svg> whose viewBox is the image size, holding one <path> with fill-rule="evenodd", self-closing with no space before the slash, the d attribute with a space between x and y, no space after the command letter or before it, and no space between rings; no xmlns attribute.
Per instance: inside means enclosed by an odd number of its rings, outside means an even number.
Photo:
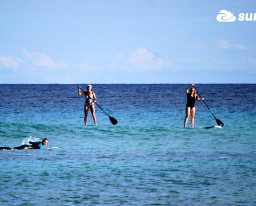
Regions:
<svg viewBox="0 0 256 206"><path fill-rule="evenodd" d="M255 0L0 0L0 18L2 84L256 83Z"/></svg>

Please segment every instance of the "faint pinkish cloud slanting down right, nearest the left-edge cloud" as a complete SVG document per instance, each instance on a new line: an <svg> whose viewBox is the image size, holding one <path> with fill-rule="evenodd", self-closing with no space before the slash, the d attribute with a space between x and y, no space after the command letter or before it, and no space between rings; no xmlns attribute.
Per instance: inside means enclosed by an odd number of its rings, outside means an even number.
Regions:
<svg viewBox="0 0 256 206"><path fill-rule="evenodd" d="M27 52L26 50L23 51L23 54L33 61L35 67L48 68L51 70L57 68L55 62L47 55L39 52Z"/></svg>

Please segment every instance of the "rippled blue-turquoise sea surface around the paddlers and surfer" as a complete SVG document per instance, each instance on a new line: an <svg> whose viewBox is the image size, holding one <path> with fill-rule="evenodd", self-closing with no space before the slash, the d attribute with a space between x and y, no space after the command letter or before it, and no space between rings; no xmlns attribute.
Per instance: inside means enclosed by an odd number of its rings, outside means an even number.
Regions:
<svg viewBox="0 0 256 206"><path fill-rule="evenodd" d="M89 83L89 82L88 82ZM98 125L84 125L85 84L0 84L1 205L256 205L256 84L93 84ZM59 147L58 149L47 149Z"/></svg>

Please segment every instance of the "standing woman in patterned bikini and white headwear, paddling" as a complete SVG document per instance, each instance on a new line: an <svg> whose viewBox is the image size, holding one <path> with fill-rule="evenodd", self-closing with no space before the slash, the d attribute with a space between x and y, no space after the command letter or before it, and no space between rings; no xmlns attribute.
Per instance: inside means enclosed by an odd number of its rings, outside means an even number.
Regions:
<svg viewBox="0 0 256 206"><path fill-rule="evenodd" d="M78 94L85 95L84 124L87 125L88 111L89 111L89 109L91 109L94 124L97 125L97 119L96 119L96 115L95 115L95 106L94 106L94 101L96 102L96 99L97 99L96 94L92 91L91 84L88 84L86 89L87 89L87 92L81 92L81 87L78 87Z"/></svg>

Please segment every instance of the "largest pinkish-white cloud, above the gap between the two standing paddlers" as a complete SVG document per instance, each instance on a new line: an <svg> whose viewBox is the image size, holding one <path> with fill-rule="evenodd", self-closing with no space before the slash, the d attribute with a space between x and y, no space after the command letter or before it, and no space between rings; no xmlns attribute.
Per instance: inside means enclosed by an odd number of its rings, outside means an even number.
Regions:
<svg viewBox="0 0 256 206"><path fill-rule="evenodd" d="M169 66L162 58L148 52L145 48L135 49L130 54L119 53L112 60L112 67L122 68L127 72L157 71Z"/></svg>

